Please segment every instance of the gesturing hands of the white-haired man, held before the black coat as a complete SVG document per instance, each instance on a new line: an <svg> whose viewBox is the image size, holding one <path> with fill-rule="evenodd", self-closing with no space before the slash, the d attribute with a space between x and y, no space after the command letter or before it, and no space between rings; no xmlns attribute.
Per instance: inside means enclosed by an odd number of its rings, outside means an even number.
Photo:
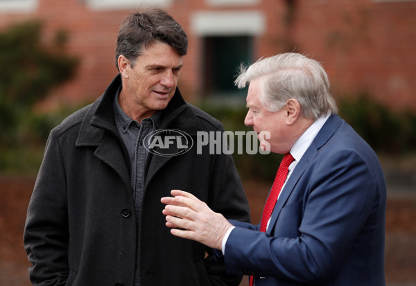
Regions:
<svg viewBox="0 0 416 286"><path fill-rule="evenodd" d="M160 200L166 204L162 213L166 215L166 226L172 228L171 233L222 250L223 238L232 224L190 193L172 190L171 194L173 197Z"/></svg>

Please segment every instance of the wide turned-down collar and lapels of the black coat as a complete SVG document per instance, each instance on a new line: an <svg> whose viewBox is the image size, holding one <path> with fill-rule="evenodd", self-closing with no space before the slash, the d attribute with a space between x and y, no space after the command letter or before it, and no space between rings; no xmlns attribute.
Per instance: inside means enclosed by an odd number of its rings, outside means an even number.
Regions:
<svg viewBox="0 0 416 286"><path fill-rule="evenodd" d="M97 146L95 156L107 163L123 179L126 186L130 185L130 158L128 150L119 135L113 111L113 100L116 91L121 86L121 75L105 89L105 92L92 105L87 107L85 117L78 132L76 146ZM202 129L196 115L184 101L179 89L176 89L173 98L166 109L162 111L160 129L180 129L191 136ZM119 148L117 148L119 146ZM152 178L172 157L148 158L148 178Z"/></svg>

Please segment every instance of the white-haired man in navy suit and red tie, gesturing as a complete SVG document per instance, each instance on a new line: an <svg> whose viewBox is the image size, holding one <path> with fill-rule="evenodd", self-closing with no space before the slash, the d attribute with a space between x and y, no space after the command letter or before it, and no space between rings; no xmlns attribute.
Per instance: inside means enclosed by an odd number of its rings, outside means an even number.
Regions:
<svg viewBox="0 0 416 286"><path fill-rule="evenodd" d="M329 80L297 53L242 69L245 125L270 132L261 146L285 154L261 224L225 220L195 196L163 197L166 226L218 249L250 285L385 285L385 181L379 160L337 114ZM263 142L262 142L263 141Z"/></svg>

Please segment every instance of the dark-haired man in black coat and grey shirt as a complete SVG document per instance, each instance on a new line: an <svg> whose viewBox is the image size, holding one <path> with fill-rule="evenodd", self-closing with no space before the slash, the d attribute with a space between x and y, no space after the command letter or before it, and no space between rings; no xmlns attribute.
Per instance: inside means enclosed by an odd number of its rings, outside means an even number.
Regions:
<svg viewBox="0 0 416 286"><path fill-rule="evenodd" d="M229 219L250 220L232 157L208 146L157 152L144 140L223 132L177 89L186 54L187 35L162 10L121 24L119 75L46 143L24 232L33 285L239 285L209 247L170 235L160 203L181 188Z"/></svg>

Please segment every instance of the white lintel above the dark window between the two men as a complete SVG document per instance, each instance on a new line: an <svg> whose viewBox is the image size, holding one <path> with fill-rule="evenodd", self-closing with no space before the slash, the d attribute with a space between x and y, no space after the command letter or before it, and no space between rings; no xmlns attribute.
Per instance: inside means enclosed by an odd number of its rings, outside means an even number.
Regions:
<svg viewBox="0 0 416 286"><path fill-rule="evenodd" d="M198 36L262 35L266 17L259 11L196 12L191 15L191 30Z"/></svg>

